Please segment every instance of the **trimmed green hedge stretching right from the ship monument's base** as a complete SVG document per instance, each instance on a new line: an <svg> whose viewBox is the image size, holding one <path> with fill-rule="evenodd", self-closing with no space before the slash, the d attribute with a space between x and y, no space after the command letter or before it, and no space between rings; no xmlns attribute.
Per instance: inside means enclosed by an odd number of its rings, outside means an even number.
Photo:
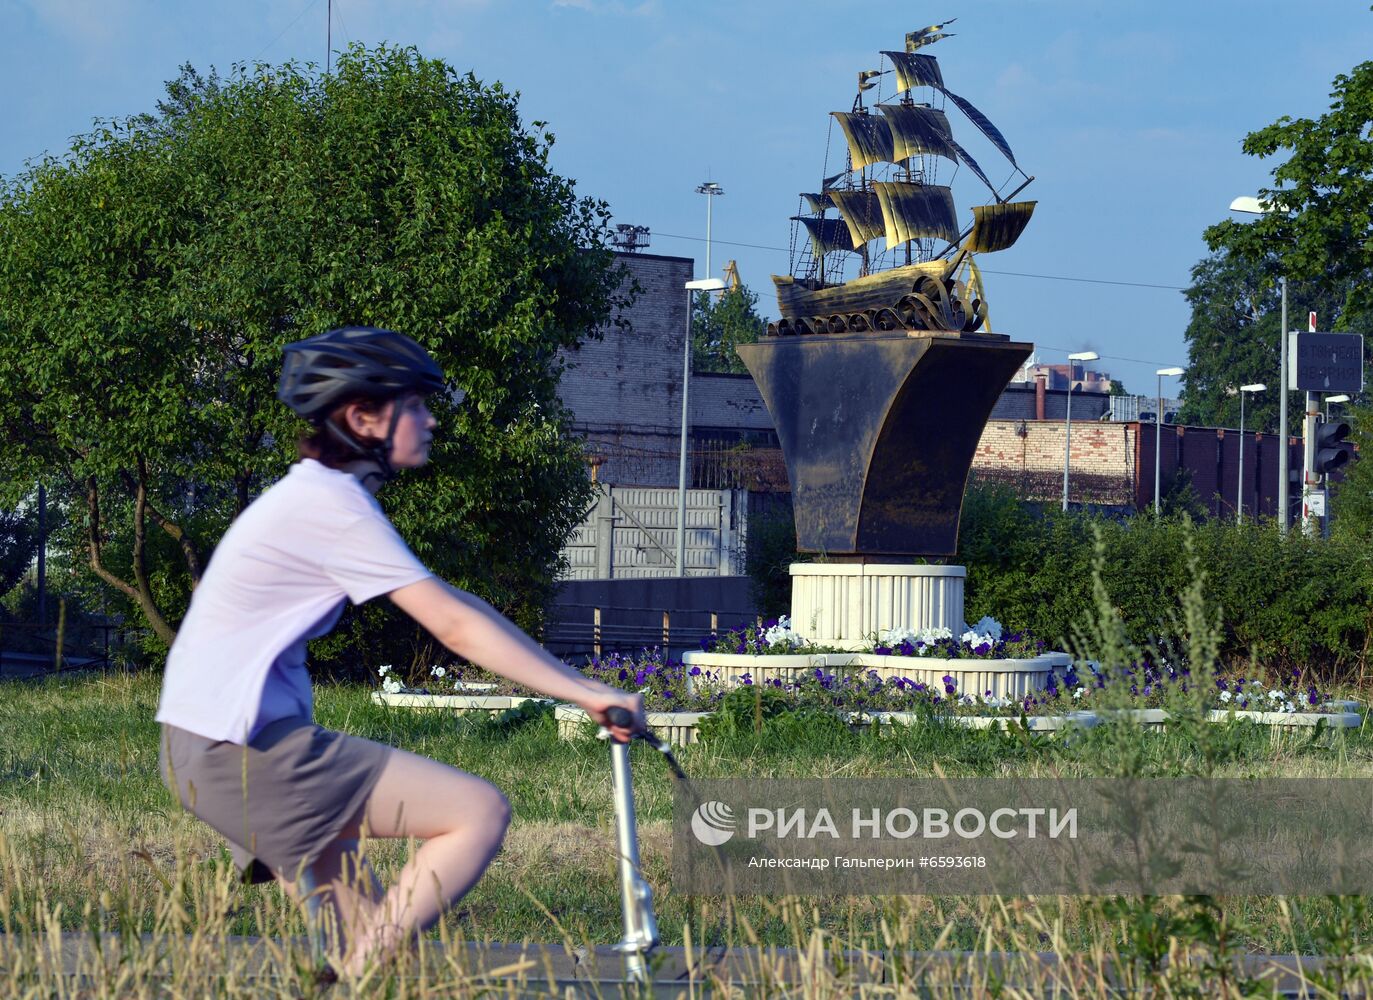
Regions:
<svg viewBox="0 0 1373 1000"><path fill-rule="evenodd" d="M1178 600L1190 578L1190 540L1205 571L1208 611L1222 622L1223 661L1361 676L1373 624L1373 574L1355 540L1284 538L1273 523L1130 518L1035 510L1011 490L972 486L958 556L968 567L967 618L1067 637L1090 611L1093 529L1105 545L1103 580L1137 643L1179 636Z"/></svg>

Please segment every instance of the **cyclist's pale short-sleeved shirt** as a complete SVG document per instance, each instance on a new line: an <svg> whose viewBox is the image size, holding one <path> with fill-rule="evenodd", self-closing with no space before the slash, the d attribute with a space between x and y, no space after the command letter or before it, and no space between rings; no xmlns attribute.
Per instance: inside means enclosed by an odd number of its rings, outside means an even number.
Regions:
<svg viewBox="0 0 1373 1000"><path fill-rule="evenodd" d="M345 600L430 576L356 477L298 462L214 549L168 654L157 720L247 743L277 718L313 717L306 641Z"/></svg>

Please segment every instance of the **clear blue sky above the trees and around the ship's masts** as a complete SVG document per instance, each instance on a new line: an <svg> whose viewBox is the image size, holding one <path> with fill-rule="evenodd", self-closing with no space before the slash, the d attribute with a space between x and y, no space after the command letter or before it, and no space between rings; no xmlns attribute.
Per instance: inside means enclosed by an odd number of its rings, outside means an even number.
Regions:
<svg viewBox="0 0 1373 1000"><path fill-rule="evenodd" d="M0 0L0 173L151 109L183 62L323 62L327 3ZM925 51L1037 177L1020 243L982 258L993 327L1045 361L1097 350L1152 393L1156 367L1186 360L1177 288L1201 231L1267 179L1240 140L1328 107L1333 77L1373 54L1366 0L334 0L334 44L413 44L519 91L524 120L557 137L555 169L697 273L695 187L718 181L714 269L736 258L776 315L769 275L785 273L796 194L824 169L828 113L880 49L953 16L956 36ZM967 144L989 166L979 139ZM968 181L954 181L965 217Z"/></svg>

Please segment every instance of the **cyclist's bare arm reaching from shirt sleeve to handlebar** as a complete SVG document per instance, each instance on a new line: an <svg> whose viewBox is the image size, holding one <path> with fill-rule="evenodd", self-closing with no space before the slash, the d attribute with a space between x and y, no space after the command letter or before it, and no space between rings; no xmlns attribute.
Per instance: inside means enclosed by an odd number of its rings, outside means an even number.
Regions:
<svg viewBox="0 0 1373 1000"><path fill-rule="evenodd" d="M641 695L592 680L548 654L496 609L437 577L393 591L391 600L428 629L443 646L474 663L504 677L542 691L551 698L574 702L601 725L605 710L629 709L644 724ZM629 731L607 727L619 739Z"/></svg>

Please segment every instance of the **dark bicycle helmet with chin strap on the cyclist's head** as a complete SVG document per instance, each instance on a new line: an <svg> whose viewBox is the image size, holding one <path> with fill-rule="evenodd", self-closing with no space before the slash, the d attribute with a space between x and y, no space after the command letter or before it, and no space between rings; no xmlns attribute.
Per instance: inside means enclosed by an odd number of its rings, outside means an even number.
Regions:
<svg viewBox="0 0 1373 1000"><path fill-rule="evenodd" d="M443 389L443 372L428 352L405 334L378 327L341 327L287 343L281 350L286 360L277 398L361 457L376 462L382 479L390 479L395 474L390 459L400 408L391 413L386 440L375 444L358 441L325 418L341 401L358 396L384 400Z"/></svg>

